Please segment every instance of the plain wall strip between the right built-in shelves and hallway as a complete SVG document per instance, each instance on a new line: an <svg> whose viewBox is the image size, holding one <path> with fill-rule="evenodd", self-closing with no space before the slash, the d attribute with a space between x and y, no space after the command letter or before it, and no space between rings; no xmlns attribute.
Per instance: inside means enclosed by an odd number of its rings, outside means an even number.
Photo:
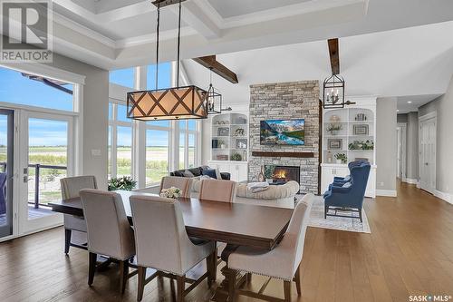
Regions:
<svg viewBox="0 0 453 302"><path fill-rule="evenodd" d="M396 196L397 100L378 98L376 102L376 192Z"/></svg>

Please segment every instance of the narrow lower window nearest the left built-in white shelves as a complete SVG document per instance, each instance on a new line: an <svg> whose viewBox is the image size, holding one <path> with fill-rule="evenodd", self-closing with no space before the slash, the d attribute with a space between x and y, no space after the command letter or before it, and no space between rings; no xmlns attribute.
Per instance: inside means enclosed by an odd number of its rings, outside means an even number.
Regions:
<svg viewBox="0 0 453 302"><path fill-rule="evenodd" d="M179 121L179 169L197 166L198 125L195 120Z"/></svg>

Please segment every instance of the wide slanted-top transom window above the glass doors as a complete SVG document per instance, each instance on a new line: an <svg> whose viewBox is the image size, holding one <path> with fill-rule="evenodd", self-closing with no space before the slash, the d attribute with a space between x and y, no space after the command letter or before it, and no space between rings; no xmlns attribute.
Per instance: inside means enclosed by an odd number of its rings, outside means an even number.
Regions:
<svg viewBox="0 0 453 302"><path fill-rule="evenodd" d="M73 85L0 67L0 102L74 111Z"/></svg>

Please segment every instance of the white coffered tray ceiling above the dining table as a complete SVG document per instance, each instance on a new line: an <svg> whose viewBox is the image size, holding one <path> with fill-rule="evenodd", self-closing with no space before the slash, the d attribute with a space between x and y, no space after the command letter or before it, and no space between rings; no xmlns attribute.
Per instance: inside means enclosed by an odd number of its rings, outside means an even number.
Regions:
<svg viewBox="0 0 453 302"><path fill-rule="evenodd" d="M149 0L53 0L53 51L104 69L155 63ZM176 57L177 6L161 12L160 58ZM453 1L188 0L181 55L192 58L453 20Z"/></svg>

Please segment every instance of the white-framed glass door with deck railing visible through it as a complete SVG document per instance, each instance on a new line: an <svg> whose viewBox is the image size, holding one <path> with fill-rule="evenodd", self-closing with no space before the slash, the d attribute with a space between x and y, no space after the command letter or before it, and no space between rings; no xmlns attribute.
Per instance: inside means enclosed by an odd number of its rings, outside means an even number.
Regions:
<svg viewBox="0 0 453 302"><path fill-rule="evenodd" d="M61 200L60 180L73 170L73 118L59 114L22 112L21 234L63 223L49 202Z"/></svg>

